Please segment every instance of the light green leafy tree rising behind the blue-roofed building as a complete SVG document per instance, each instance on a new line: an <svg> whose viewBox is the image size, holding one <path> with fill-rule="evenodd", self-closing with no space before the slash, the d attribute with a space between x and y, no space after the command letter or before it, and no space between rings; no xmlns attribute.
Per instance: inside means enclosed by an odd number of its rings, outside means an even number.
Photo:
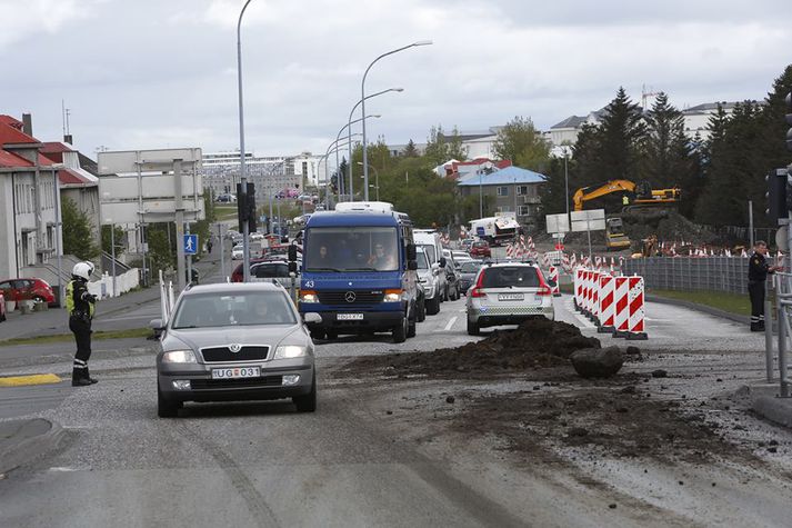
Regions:
<svg viewBox="0 0 792 528"><path fill-rule="evenodd" d="M531 118L517 116L499 132L493 145L495 157L535 172L544 172L550 161L550 143Z"/></svg>

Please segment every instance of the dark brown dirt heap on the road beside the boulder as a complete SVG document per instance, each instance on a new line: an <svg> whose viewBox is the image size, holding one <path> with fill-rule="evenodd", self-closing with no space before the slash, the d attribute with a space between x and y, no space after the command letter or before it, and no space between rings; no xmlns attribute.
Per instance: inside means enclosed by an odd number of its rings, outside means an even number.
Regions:
<svg viewBox="0 0 792 528"><path fill-rule="evenodd" d="M600 348L596 338L581 335L567 322L534 319L515 330L497 330L485 339L457 348L441 348L432 352L392 353L359 358L348 365L351 369L382 368L385 375L443 375L470 372L492 375L529 369L569 366L575 350Z"/></svg>

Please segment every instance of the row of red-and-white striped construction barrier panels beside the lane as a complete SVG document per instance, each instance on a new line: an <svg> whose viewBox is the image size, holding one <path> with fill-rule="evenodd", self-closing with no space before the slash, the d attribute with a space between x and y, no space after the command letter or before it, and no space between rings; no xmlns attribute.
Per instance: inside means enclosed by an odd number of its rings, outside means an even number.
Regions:
<svg viewBox="0 0 792 528"><path fill-rule="evenodd" d="M613 277L577 268L574 307L596 325L598 332L648 339L643 277Z"/></svg>

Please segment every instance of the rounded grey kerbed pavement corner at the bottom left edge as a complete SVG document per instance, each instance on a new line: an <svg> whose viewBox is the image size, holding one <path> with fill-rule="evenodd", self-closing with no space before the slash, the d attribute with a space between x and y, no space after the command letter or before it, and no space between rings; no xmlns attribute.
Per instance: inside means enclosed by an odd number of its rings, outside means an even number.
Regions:
<svg viewBox="0 0 792 528"><path fill-rule="evenodd" d="M63 428L43 418L0 422L0 474L7 474L54 449Z"/></svg>

